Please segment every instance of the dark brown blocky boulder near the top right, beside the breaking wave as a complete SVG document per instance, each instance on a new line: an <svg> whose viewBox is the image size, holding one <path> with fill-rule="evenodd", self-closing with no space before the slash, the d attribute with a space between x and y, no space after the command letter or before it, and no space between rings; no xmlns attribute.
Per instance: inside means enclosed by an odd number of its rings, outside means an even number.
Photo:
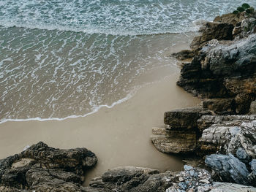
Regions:
<svg viewBox="0 0 256 192"><path fill-rule="evenodd" d="M231 40L233 39L233 28L233 24L229 23L208 22L203 34L199 37L195 37L190 44L190 47L192 49L198 49L206 45L206 42L211 39Z"/></svg>

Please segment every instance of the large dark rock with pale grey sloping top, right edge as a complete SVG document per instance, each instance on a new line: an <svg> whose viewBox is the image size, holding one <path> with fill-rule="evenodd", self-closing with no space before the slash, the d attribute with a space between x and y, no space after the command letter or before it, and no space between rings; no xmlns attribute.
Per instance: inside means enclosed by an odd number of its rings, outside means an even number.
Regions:
<svg viewBox="0 0 256 192"><path fill-rule="evenodd" d="M235 112L249 112L255 100L256 34L227 45L202 49L184 64L177 85L203 98L234 99Z"/></svg>

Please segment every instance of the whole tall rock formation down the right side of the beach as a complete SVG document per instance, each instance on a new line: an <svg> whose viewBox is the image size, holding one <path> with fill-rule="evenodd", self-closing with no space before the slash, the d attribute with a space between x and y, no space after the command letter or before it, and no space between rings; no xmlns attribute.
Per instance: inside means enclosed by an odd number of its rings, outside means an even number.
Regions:
<svg viewBox="0 0 256 192"><path fill-rule="evenodd" d="M256 185L256 12L219 16L200 31L192 50L173 56L192 58L177 85L202 104L165 112L152 142L163 153L208 155L214 180Z"/></svg>

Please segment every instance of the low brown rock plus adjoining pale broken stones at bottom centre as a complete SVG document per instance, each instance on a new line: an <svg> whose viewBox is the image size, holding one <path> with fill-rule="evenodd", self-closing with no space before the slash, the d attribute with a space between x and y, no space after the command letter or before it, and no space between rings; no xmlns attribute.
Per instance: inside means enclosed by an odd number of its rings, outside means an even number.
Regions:
<svg viewBox="0 0 256 192"><path fill-rule="evenodd" d="M159 173L155 169L141 167L118 167L111 169L91 181L91 188L104 191L189 191L189 189L211 189L211 174L204 169L184 166L183 172Z"/></svg>

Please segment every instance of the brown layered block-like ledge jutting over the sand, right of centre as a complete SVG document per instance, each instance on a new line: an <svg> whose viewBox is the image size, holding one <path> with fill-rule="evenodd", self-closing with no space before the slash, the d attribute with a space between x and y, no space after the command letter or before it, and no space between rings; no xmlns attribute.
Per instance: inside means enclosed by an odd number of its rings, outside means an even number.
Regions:
<svg viewBox="0 0 256 192"><path fill-rule="evenodd" d="M212 114L200 107L165 112L165 128L153 128L151 140L163 153L192 153L196 150L198 139L197 120Z"/></svg>

